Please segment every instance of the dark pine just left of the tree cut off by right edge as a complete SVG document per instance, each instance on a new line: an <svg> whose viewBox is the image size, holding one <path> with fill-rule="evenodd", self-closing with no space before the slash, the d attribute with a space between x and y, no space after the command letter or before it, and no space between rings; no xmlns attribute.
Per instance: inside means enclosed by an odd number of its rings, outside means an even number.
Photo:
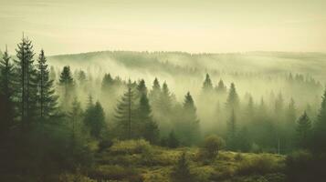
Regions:
<svg viewBox="0 0 326 182"><path fill-rule="evenodd" d="M311 123L310 118L306 112L300 116L297 122L297 145L300 148L307 148L309 145L310 139L310 130L311 130Z"/></svg>

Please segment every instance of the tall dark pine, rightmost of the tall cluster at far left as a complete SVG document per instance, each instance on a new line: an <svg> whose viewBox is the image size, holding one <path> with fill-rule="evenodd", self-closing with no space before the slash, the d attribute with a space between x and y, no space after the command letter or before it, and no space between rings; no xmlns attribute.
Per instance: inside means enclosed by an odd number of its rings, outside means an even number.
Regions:
<svg viewBox="0 0 326 182"><path fill-rule="evenodd" d="M49 78L47 58L43 50L41 50L37 60L37 87L38 115L40 119L44 121L56 114L58 96L55 96L53 80Z"/></svg>

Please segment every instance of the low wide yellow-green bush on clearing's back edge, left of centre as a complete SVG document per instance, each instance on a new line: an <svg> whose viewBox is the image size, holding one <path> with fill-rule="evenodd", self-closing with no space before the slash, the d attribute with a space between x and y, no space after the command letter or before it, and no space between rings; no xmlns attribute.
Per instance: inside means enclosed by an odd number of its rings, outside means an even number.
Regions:
<svg viewBox="0 0 326 182"><path fill-rule="evenodd" d="M142 154L152 149L149 142L140 140L125 140L115 141L110 147L110 154L121 155L121 154Z"/></svg>

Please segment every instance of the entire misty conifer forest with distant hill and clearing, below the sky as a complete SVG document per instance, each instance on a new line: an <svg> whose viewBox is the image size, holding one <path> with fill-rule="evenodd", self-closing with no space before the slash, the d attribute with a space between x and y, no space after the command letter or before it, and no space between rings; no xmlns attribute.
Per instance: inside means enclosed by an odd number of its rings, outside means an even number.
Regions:
<svg viewBox="0 0 326 182"><path fill-rule="evenodd" d="M326 55L0 56L0 181L326 176Z"/></svg>

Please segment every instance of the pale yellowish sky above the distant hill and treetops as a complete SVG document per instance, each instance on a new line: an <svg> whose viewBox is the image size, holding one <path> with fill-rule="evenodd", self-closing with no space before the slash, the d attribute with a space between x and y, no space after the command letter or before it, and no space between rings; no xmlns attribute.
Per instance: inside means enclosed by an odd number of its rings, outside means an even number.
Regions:
<svg viewBox="0 0 326 182"><path fill-rule="evenodd" d="M326 52L325 0L0 0L0 49Z"/></svg>

